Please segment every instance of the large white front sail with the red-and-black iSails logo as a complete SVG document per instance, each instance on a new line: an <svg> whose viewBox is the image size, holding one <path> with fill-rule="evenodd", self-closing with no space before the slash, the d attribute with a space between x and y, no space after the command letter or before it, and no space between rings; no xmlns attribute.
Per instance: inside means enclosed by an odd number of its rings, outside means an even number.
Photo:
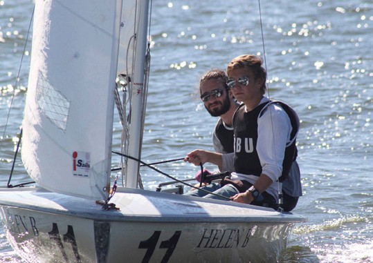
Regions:
<svg viewBox="0 0 373 263"><path fill-rule="evenodd" d="M35 3L22 160L49 191L109 192L121 2Z"/></svg>

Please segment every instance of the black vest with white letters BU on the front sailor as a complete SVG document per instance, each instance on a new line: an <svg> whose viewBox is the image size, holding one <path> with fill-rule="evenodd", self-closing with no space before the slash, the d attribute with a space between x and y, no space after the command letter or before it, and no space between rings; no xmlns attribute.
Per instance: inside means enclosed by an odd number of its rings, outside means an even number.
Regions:
<svg viewBox="0 0 373 263"><path fill-rule="evenodd" d="M235 156L234 165L237 173L246 175L260 176L262 174L262 166L257 155L257 121L264 114L265 110L271 104L280 105L291 121L291 137L286 144L284 160L282 162L282 175L279 177L279 182L283 182L289 175L291 164L296 159L297 149L295 147L296 135L299 130L299 118L295 111L282 101L268 101L260 104L254 110L245 112L245 106L242 104L237 108L233 115L233 125L235 134Z"/></svg>

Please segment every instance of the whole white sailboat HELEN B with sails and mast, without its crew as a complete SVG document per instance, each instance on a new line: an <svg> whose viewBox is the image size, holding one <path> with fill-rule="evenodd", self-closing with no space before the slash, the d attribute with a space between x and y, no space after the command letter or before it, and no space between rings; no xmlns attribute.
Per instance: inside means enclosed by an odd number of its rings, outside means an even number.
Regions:
<svg viewBox="0 0 373 263"><path fill-rule="evenodd" d="M0 189L10 244L28 262L275 262L304 217L138 186L148 10L35 1L21 148L35 185ZM111 177L119 75L131 86L125 153L136 157L123 186Z"/></svg>

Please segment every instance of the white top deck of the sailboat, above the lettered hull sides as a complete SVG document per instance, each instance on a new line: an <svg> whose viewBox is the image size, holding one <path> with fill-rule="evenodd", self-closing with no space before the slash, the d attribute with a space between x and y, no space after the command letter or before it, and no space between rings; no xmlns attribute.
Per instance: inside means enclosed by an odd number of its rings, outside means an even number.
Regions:
<svg viewBox="0 0 373 263"><path fill-rule="evenodd" d="M110 202L118 211L102 211L95 200L51 193L42 188L1 189L0 204L100 221L137 222L304 222L291 213L215 199L119 188Z"/></svg>

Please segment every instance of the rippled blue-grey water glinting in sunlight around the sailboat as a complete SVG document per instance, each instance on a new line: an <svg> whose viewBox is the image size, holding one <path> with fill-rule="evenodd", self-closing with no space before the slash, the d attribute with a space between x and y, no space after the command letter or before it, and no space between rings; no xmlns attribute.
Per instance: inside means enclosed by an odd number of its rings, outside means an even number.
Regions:
<svg viewBox="0 0 373 263"><path fill-rule="evenodd" d="M296 226L282 262L373 262L373 3L261 5L270 95L293 106L302 121L298 162L304 196L293 212L309 222ZM0 0L1 136L12 104L1 140L1 186L8 180L23 115L30 45L15 83L32 10L29 0ZM212 150L216 119L198 99L197 82L233 57L263 54L257 1L154 1L151 30L143 161ZM115 128L118 146L118 121ZM198 169L183 162L158 168L180 179ZM146 168L141 173L146 188L165 180ZM13 184L27 180L19 160L14 177ZM21 262L2 230L0 261Z"/></svg>

